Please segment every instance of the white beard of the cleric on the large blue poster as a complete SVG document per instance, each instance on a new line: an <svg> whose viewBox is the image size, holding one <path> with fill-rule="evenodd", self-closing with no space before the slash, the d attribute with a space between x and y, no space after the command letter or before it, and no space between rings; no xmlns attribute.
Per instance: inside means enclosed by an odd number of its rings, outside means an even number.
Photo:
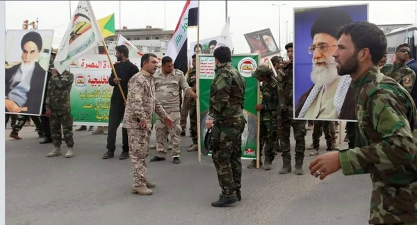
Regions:
<svg viewBox="0 0 417 225"><path fill-rule="evenodd" d="M337 63L334 61L334 57L325 58L325 66L316 66L316 63L319 60L312 60L313 61L313 70L311 71L310 77L311 81L313 81L316 85L329 85L331 84L337 77ZM322 61L322 60L320 60Z"/></svg>

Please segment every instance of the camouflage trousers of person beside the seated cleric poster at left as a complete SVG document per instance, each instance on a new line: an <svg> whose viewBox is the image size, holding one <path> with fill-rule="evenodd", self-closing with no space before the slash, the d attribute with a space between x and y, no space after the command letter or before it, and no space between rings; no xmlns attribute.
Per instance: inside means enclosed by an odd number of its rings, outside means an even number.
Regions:
<svg viewBox="0 0 417 225"><path fill-rule="evenodd" d="M51 125L51 138L54 147L60 147L62 144L62 135L64 133L64 140L67 147L74 146L74 139L72 138L72 115L71 109L51 110L52 114L49 117L49 124ZM62 126L62 128L61 128Z"/></svg>

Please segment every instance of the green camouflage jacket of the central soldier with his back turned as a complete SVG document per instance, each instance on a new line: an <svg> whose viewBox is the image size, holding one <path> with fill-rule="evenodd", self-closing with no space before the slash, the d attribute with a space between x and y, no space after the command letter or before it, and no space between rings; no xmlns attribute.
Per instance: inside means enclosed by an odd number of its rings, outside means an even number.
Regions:
<svg viewBox="0 0 417 225"><path fill-rule="evenodd" d="M243 117L245 79L231 63L215 69L215 78L210 87L208 114L219 120Z"/></svg>

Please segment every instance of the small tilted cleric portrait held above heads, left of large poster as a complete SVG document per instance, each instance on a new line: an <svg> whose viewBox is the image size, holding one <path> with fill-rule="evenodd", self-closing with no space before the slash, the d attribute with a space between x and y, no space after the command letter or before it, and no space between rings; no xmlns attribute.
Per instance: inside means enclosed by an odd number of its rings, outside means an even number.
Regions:
<svg viewBox="0 0 417 225"><path fill-rule="evenodd" d="M261 58L279 53L279 47L277 42L275 42L270 28L244 35L247 44L249 44L250 53L261 53Z"/></svg>

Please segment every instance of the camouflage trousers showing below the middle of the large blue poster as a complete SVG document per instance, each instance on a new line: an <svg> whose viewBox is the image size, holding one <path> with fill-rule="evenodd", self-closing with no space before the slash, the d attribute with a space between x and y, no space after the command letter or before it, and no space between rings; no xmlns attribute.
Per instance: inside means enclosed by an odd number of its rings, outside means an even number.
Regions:
<svg viewBox="0 0 417 225"><path fill-rule="evenodd" d="M332 129L333 126L333 129ZM333 131L333 132L332 132ZM336 143L334 124L330 121L315 121L313 127L313 147L320 149L320 138L325 133L327 149L332 149L332 143Z"/></svg>

